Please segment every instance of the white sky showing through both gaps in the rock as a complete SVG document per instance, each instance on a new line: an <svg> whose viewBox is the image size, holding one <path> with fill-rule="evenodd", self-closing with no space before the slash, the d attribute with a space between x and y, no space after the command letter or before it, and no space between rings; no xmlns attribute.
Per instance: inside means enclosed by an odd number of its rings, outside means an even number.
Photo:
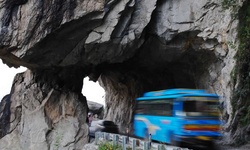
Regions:
<svg viewBox="0 0 250 150"><path fill-rule="evenodd" d="M0 59L0 101L2 98L10 93L11 86L15 75L19 72L24 72L26 68L9 68L7 65L2 63ZM82 93L86 96L87 100L103 104L105 92L104 89L99 85L98 82L89 81L89 78L84 78Z"/></svg>

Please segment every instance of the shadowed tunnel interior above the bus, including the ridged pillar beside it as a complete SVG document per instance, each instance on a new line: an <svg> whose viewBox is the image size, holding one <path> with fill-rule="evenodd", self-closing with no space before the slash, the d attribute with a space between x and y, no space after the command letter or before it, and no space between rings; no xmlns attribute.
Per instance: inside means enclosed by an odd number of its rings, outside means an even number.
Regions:
<svg viewBox="0 0 250 150"><path fill-rule="evenodd" d="M132 129L135 98L148 91L170 88L206 89L218 77L223 63L215 48L206 48L198 32L182 33L171 41L149 35L137 54L126 62L102 64L99 83L105 90L104 118L123 132ZM212 43L218 44L217 41Z"/></svg>

